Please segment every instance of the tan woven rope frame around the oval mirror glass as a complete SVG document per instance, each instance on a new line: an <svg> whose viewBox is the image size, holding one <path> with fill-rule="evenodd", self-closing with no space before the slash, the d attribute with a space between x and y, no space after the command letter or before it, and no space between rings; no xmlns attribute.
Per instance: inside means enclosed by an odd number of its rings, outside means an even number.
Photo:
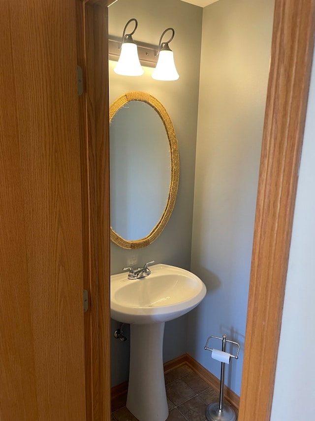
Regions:
<svg viewBox="0 0 315 421"><path fill-rule="evenodd" d="M126 94L117 98L117 100L114 101L109 108L109 121L111 122L117 111L129 101L146 102L158 113L166 130L171 155L171 180L169 185L168 198L164 211L154 229L146 237L139 238L138 240L134 241L129 241L125 240L123 237L117 234L117 232L115 232L112 227L110 228L110 239L115 244L124 249L139 249L148 246L158 238L172 214L179 182L179 151L175 130L170 116L167 114L167 111L163 105L155 97L146 92L127 92Z"/></svg>

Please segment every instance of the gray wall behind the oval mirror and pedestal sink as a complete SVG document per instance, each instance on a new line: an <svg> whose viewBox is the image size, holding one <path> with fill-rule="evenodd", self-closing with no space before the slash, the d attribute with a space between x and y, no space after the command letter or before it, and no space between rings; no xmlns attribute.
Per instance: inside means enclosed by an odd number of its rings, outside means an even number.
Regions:
<svg viewBox="0 0 315 421"><path fill-rule="evenodd" d="M170 115L179 144L180 182L172 216L158 239L150 246L130 251L111 245L111 273L123 267L137 267L155 260L190 268L195 150L200 72L202 8L180 0L119 0L109 7L109 34L121 36L130 18L138 20L134 40L158 44L162 32L175 29L170 43L180 78L162 82L151 77L153 69L144 68L141 77L123 77L109 63L110 103L127 91L141 90L155 96ZM133 27L130 27L131 29ZM168 35L168 34L166 34ZM140 157L139 157L140 158ZM154 157L153 157L154 158ZM139 159L140 160L140 159ZM164 360L187 351L187 315L167 322L164 335ZM120 323L112 321L112 335ZM126 334L129 338L128 326ZM112 385L128 378L129 341L111 339Z"/></svg>

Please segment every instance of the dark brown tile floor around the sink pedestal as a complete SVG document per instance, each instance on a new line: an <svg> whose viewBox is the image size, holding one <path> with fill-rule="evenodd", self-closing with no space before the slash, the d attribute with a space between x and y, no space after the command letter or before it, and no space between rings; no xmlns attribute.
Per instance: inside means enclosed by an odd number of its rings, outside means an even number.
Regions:
<svg viewBox="0 0 315 421"><path fill-rule="evenodd" d="M169 407L167 421L206 421L207 406L219 402L219 392L187 364L166 373L165 384ZM125 393L112 401L112 421L138 421L127 410L126 397Z"/></svg>

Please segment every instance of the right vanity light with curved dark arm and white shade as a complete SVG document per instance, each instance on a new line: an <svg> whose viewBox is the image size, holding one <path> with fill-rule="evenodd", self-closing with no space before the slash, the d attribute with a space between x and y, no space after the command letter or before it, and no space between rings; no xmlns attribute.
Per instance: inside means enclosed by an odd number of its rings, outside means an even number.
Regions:
<svg viewBox="0 0 315 421"><path fill-rule="evenodd" d="M167 31L172 31L172 36L168 41L162 42L162 38ZM158 41L158 63L155 68L152 77L157 80L177 80L179 74L177 73L174 54L169 47L169 42L174 38L175 31L173 28L167 28L162 33Z"/></svg>

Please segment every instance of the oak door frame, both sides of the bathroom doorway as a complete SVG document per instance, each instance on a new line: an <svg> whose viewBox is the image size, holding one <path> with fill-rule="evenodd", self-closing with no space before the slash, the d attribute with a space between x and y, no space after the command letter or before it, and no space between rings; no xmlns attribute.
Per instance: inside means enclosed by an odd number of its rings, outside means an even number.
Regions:
<svg viewBox="0 0 315 421"><path fill-rule="evenodd" d="M86 315L87 420L96 421L110 420L107 6L113 1L77 1L78 64L86 83L80 99L85 282L92 301ZM275 0L240 421L267 421L271 414L314 34L315 0Z"/></svg>

